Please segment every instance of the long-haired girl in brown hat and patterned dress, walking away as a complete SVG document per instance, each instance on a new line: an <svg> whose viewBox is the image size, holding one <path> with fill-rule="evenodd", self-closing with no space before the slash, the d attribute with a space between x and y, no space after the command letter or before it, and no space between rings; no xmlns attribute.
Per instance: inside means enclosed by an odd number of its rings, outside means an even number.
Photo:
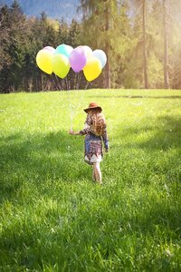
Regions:
<svg viewBox="0 0 181 272"><path fill-rule="evenodd" d="M87 118L82 131L69 131L71 135L85 135L84 160L93 166L93 180L101 184L100 161L103 158L102 141L105 151L109 151L109 139L106 130L106 121L101 113L102 109L96 102L91 102L85 109Z"/></svg>

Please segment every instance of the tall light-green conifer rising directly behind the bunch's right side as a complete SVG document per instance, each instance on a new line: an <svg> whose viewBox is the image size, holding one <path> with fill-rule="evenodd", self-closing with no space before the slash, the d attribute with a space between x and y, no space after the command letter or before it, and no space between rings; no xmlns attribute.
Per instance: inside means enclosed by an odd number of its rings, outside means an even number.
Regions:
<svg viewBox="0 0 181 272"><path fill-rule="evenodd" d="M108 62L102 76L97 80L105 88L115 87L121 78L129 45L129 18L126 1L116 0L81 0L83 12L81 44L89 44L93 49L102 49L108 57ZM102 85L101 82L104 82Z"/></svg>

